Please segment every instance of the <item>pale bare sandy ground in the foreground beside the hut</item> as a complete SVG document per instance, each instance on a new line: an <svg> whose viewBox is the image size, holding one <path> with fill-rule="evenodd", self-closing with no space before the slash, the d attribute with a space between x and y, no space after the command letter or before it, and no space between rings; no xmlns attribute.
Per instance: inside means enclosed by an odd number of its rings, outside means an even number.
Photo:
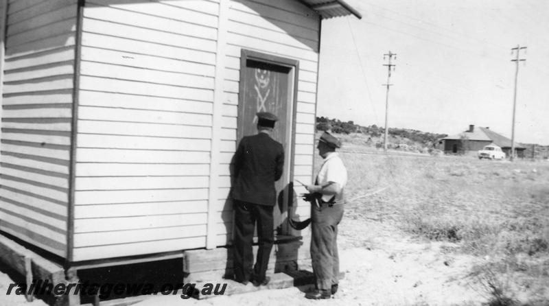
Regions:
<svg viewBox="0 0 549 306"><path fill-rule="evenodd" d="M454 244L413 239L392 226L346 216L340 225L340 269L345 277L340 292L326 301L309 301L303 288L262 290L218 296L207 300L182 300L179 296L154 296L136 305L480 305L487 294L479 292L469 270L476 259L447 250ZM303 267L302 267L303 268ZM6 296L8 283L0 274L0 305L27 303L24 296Z"/></svg>

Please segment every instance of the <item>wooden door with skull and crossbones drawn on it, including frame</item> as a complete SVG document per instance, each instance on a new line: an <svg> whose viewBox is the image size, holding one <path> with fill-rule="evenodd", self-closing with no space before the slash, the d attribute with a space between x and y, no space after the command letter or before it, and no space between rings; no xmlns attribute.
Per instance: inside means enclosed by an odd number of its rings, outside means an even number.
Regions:
<svg viewBox="0 0 549 306"><path fill-rule="evenodd" d="M274 209L274 228L279 233L288 231L288 189L292 181L292 152L294 113L296 101L295 80L298 63L294 60L242 51L240 67L240 93L238 106L237 141L257 134L258 112L270 112L279 117L272 138L282 143L285 153L284 172L275 184L278 205Z"/></svg>

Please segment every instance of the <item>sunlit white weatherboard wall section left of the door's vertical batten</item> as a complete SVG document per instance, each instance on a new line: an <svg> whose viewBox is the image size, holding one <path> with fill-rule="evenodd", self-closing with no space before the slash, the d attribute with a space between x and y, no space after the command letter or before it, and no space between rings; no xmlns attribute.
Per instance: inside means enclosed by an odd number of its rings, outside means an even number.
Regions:
<svg viewBox="0 0 549 306"><path fill-rule="evenodd" d="M75 261L205 246L217 14L86 1Z"/></svg>

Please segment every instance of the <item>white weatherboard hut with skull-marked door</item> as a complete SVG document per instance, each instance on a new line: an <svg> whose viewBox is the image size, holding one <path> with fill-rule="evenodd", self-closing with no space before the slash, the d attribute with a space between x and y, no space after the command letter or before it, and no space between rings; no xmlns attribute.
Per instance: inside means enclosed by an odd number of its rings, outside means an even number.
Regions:
<svg viewBox="0 0 549 306"><path fill-rule="evenodd" d="M0 12L1 232L65 268L226 246L231 158L267 110L286 152L277 233L292 235L290 182L312 179L321 20L360 18L347 3L3 0Z"/></svg>

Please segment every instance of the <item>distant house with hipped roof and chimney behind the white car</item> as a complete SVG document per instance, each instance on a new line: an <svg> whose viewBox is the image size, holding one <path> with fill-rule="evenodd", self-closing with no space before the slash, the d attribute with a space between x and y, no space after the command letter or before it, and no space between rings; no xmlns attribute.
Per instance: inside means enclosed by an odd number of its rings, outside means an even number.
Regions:
<svg viewBox="0 0 549 306"><path fill-rule="evenodd" d="M439 144L445 154L476 154L484 145L498 145L509 157L511 154L511 139L502 134L490 130L490 128L476 128L473 124L469 125L469 130L459 134L450 135L441 139ZM515 143L515 152L518 157L524 157L526 147L520 143Z"/></svg>

